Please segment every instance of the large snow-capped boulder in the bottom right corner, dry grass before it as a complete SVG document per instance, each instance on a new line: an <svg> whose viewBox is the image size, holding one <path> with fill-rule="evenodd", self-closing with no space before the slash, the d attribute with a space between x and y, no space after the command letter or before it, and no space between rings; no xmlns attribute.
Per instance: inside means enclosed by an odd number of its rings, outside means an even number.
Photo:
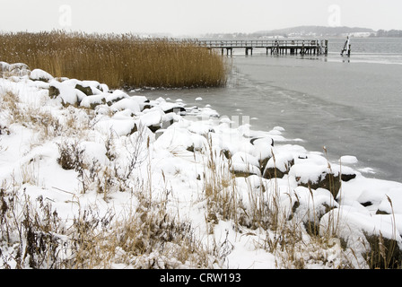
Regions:
<svg viewBox="0 0 402 287"><path fill-rule="evenodd" d="M383 216L363 213L351 205L341 205L324 214L320 236L336 238L344 252L353 254L359 265L368 268L398 268L402 262L402 239L395 222Z"/></svg>

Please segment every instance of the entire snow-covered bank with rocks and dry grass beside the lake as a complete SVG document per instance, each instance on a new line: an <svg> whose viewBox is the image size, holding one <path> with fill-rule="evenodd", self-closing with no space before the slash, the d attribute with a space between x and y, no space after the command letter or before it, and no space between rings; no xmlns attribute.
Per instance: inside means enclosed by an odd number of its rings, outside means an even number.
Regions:
<svg viewBox="0 0 402 287"><path fill-rule="evenodd" d="M22 64L0 73L3 268L401 265L402 184L363 177L353 155L328 162L283 127L250 130L202 98L130 97ZM130 220L141 252L111 243ZM77 222L95 221L114 248L92 262ZM44 239L46 260L31 249Z"/></svg>

